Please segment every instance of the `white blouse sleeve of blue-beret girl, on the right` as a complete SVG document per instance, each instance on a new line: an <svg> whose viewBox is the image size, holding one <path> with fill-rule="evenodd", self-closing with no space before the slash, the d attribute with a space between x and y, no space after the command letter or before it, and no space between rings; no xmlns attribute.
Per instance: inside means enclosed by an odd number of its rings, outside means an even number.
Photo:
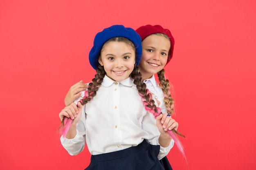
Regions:
<svg viewBox="0 0 256 170"><path fill-rule="evenodd" d="M151 145L160 145L158 142L158 138L160 136L160 132L156 126L156 119L154 115L150 112L144 116L142 121L142 129L148 132L148 143ZM160 160L164 158L170 152L171 148L173 148L174 141L171 139L171 142L168 147L164 148L160 146L159 154L157 158Z"/></svg>

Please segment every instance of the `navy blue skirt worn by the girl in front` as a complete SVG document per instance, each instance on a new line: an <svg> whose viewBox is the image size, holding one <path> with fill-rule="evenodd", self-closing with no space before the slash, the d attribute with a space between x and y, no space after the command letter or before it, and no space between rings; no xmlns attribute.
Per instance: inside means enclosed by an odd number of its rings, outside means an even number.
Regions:
<svg viewBox="0 0 256 170"><path fill-rule="evenodd" d="M100 155L92 155L85 170L164 170L157 158L159 145L145 140L138 146Z"/></svg>

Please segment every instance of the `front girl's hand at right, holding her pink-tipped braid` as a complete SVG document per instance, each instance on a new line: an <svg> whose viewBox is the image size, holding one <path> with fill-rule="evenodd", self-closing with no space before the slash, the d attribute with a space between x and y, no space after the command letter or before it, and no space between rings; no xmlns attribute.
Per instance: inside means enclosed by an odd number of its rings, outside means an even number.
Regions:
<svg viewBox="0 0 256 170"><path fill-rule="evenodd" d="M166 113L157 116L157 128L161 134L166 134L167 130L177 130L179 124L171 116L167 116Z"/></svg>

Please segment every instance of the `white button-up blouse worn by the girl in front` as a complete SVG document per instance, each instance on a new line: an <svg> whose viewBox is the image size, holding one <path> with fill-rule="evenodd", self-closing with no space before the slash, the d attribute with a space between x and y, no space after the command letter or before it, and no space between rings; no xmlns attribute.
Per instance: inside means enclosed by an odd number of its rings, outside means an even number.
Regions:
<svg viewBox="0 0 256 170"><path fill-rule="evenodd" d="M76 99L82 99L84 92ZM159 145L160 132L152 113L145 110L136 85L129 77L115 82L105 76L97 95L83 106L73 139L63 138L61 144L70 155L83 151L85 142L92 155L114 152L137 146L144 139ZM160 146L158 159L165 157L174 145Z"/></svg>

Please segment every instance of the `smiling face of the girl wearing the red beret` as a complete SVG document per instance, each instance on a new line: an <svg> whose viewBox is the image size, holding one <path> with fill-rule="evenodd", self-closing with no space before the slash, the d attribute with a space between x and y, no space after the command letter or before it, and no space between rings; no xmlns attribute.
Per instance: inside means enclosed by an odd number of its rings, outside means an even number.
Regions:
<svg viewBox="0 0 256 170"><path fill-rule="evenodd" d="M139 62L139 72L143 80L152 77L166 65L170 41L163 35L149 35L142 41L142 57Z"/></svg>

